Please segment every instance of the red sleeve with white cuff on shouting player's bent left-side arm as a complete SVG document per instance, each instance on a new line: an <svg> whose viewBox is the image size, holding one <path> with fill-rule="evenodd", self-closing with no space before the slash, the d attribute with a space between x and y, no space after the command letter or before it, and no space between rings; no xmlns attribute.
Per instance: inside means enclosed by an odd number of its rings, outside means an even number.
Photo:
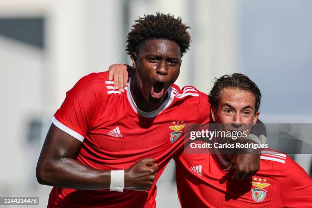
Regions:
<svg viewBox="0 0 312 208"><path fill-rule="evenodd" d="M99 92L99 82L102 84L104 81L97 79L96 73L82 77L66 93L61 108L51 119L54 125L81 142L92 125L97 102L103 94L106 94ZM101 89L105 90L105 88Z"/></svg>

